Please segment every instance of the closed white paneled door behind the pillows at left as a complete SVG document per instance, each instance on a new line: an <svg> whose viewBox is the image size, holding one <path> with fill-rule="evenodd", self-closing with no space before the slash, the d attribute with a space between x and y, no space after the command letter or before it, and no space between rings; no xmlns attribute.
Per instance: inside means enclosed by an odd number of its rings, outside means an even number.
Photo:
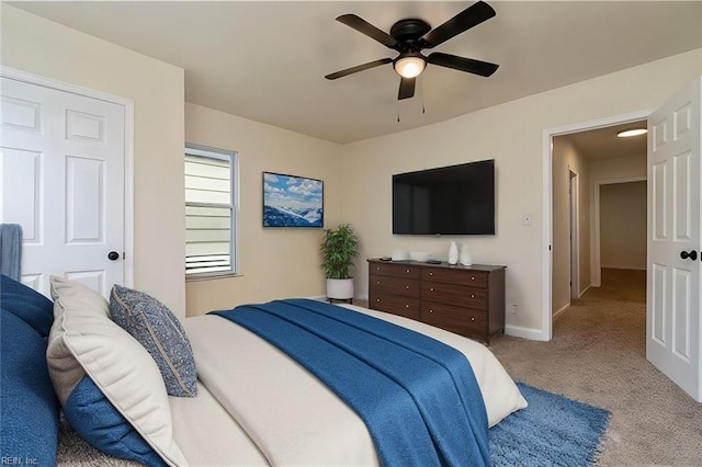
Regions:
<svg viewBox="0 0 702 467"><path fill-rule="evenodd" d="M22 282L48 295L60 275L107 296L124 283L125 107L1 80L0 221L22 226Z"/></svg>

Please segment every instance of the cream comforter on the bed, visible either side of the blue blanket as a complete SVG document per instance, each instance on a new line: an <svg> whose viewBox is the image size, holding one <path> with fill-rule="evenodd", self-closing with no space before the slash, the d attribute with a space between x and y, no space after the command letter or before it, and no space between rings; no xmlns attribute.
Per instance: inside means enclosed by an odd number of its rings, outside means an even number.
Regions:
<svg viewBox="0 0 702 467"><path fill-rule="evenodd" d="M410 319L343 305L423 332L463 352L494 425L526 401L483 344ZM316 377L258 335L218 316L185 319L201 380L170 398L174 436L191 465L378 465L363 421Z"/></svg>

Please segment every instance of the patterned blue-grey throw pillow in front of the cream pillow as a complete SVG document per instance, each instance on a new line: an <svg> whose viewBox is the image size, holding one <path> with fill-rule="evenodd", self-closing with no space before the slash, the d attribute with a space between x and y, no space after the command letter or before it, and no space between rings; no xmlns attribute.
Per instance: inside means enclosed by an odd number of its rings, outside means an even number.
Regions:
<svg viewBox="0 0 702 467"><path fill-rule="evenodd" d="M110 293L114 322L151 354L170 396L197 395L197 372L183 326L166 305L143 292L115 285Z"/></svg>

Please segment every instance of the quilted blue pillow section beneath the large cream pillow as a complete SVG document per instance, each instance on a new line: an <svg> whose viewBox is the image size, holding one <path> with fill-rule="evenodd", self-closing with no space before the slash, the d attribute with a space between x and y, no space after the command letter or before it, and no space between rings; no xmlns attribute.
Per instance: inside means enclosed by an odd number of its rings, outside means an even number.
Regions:
<svg viewBox="0 0 702 467"><path fill-rule="evenodd" d="M83 440L103 453L147 466L166 465L88 375L68 396L64 415Z"/></svg>

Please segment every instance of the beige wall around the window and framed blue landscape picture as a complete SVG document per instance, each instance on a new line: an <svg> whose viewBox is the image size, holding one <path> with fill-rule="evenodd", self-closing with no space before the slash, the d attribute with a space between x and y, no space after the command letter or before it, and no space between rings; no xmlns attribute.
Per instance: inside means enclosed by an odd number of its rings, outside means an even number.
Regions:
<svg viewBox="0 0 702 467"><path fill-rule="evenodd" d="M274 126L185 104L185 140L239 153L239 277L190 281L188 315L290 296L324 296L321 229L263 228L262 172L325 182L325 228L342 218L340 146Z"/></svg>

